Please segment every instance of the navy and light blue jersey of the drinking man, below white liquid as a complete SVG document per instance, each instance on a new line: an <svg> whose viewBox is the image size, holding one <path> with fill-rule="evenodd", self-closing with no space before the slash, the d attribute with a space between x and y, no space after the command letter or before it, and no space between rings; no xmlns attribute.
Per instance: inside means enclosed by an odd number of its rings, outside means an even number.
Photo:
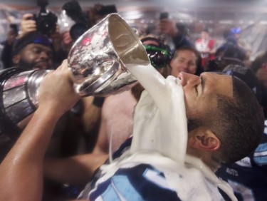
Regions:
<svg viewBox="0 0 267 201"><path fill-rule="evenodd" d="M130 148L132 138L123 143L113 154L119 157ZM78 198L89 200L180 200L177 193L168 188L164 174L151 165L140 164L133 168L120 168L110 179L97 184L101 172L97 170ZM89 196L90 192L90 196Z"/></svg>

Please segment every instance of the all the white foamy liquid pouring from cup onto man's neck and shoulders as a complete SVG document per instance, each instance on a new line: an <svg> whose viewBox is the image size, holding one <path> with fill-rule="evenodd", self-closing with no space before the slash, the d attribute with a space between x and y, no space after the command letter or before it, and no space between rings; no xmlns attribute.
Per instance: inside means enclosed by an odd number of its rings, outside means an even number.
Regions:
<svg viewBox="0 0 267 201"><path fill-rule="evenodd" d="M201 160L186 155L187 118L179 79L164 79L150 65L126 67L146 91L135 108L130 150L103 165L105 175L98 182L107 180L119 168L146 163L164 172L166 185L182 200L222 200L217 187L236 200L226 182L219 180Z"/></svg>

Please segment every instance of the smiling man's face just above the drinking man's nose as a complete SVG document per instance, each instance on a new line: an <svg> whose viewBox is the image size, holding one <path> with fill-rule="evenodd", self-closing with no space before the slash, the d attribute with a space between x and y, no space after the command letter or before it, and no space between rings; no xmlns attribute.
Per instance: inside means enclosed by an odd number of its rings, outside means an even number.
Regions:
<svg viewBox="0 0 267 201"><path fill-rule="evenodd" d="M193 51L182 50L171 63L172 76L177 77L180 72L194 74L197 72L197 56Z"/></svg>

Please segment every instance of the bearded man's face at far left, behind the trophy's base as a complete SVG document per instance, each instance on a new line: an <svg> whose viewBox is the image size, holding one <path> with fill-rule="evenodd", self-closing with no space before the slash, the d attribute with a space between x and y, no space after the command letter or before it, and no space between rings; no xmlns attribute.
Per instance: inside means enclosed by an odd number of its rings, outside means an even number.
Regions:
<svg viewBox="0 0 267 201"><path fill-rule="evenodd" d="M48 46L30 43L19 53L16 67L33 69L48 69L52 67L52 50Z"/></svg>

